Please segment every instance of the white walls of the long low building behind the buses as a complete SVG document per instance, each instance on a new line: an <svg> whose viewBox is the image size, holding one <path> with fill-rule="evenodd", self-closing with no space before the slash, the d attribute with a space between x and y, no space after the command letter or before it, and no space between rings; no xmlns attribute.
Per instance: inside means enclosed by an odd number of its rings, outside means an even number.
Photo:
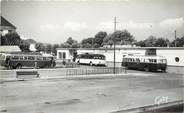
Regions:
<svg viewBox="0 0 184 113"><path fill-rule="evenodd" d="M145 55L147 48L122 48L116 50L116 63L117 66L121 66L122 58L124 55L136 54ZM71 59L69 50L58 50L57 52L66 52L66 59ZM184 48L157 48L157 55L164 56L167 59L167 64L170 66L184 66ZM82 53L96 53L106 56L106 62L108 65L113 65L114 50L113 49L78 49L77 54ZM179 62L175 61L175 58L179 58ZM58 59L58 53L57 53Z"/></svg>

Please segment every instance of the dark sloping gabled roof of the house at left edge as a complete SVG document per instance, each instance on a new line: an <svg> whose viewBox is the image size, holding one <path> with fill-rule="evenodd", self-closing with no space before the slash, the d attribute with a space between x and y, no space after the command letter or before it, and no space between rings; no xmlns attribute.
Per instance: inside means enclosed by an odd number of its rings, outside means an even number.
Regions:
<svg viewBox="0 0 184 113"><path fill-rule="evenodd" d="M1 29L16 29L16 27L10 23L8 20L6 20L4 17L1 16L0 18L1 23L0 23L0 30Z"/></svg>

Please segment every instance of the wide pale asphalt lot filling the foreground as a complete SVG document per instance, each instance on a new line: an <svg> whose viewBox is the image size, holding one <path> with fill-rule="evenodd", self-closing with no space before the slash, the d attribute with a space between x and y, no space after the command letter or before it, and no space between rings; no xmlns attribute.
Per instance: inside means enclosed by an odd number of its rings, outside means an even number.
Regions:
<svg viewBox="0 0 184 113"><path fill-rule="evenodd" d="M62 69L38 70L42 77L3 81L15 71L0 71L0 112L6 113L109 113L146 105L182 100L183 68L167 73L128 70L106 77L58 78ZM56 77L56 78L55 78Z"/></svg>

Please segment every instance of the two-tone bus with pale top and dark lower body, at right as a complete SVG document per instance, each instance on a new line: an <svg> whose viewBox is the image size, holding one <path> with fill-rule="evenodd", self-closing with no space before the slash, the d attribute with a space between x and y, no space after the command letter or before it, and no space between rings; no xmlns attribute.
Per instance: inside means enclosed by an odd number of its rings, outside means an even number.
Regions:
<svg viewBox="0 0 184 113"><path fill-rule="evenodd" d="M144 71L165 72L167 69L167 60L163 56L124 56L122 66L130 69L139 69Z"/></svg>

